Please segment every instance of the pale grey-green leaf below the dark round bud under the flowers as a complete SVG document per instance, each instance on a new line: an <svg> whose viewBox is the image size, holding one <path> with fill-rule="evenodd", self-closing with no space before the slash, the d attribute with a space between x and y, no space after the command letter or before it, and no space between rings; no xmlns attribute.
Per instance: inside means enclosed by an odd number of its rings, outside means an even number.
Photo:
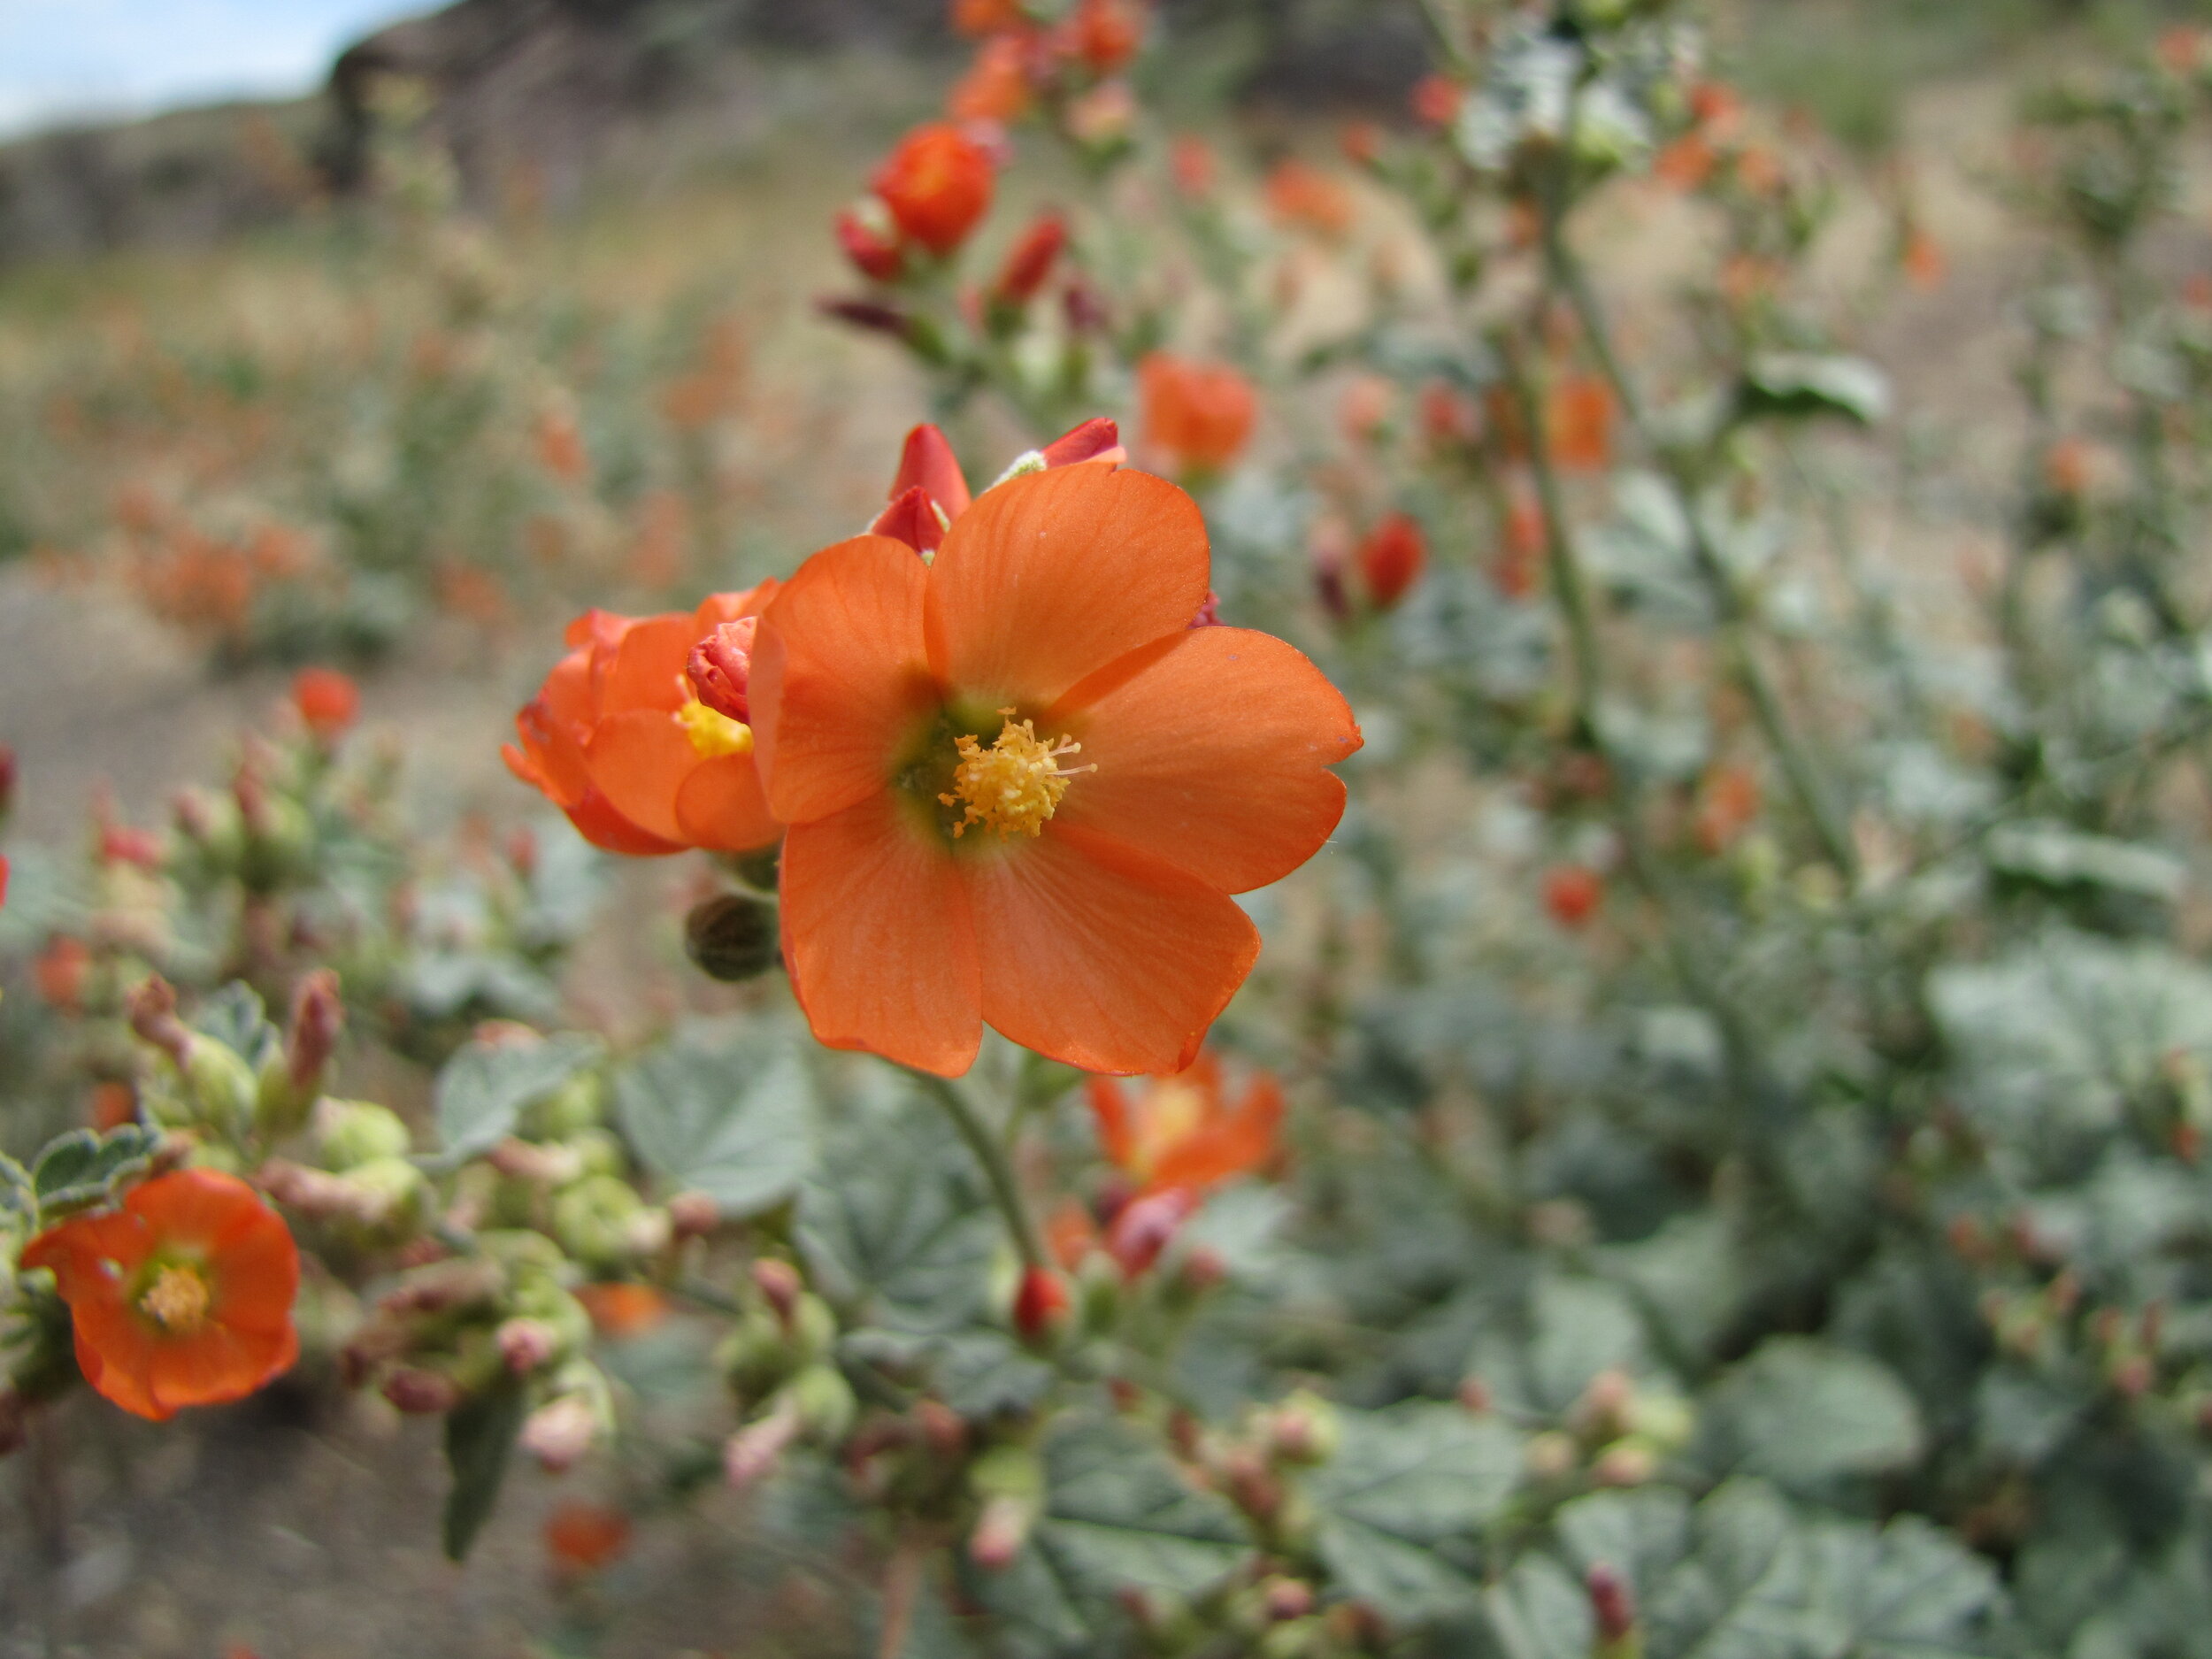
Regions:
<svg viewBox="0 0 2212 1659"><path fill-rule="evenodd" d="M792 1197L814 1161L814 1084L781 1046L679 1037L622 1073L615 1113L648 1170L728 1217Z"/></svg>

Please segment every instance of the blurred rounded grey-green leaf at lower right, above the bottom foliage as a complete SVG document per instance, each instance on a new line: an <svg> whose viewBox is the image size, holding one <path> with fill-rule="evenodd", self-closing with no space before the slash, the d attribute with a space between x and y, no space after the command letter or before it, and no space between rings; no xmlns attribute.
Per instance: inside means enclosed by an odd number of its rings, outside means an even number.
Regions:
<svg viewBox="0 0 2212 1659"><path fill-rule="evenodd" d="M1898 1469L1924 1444L1920 1409L1889 1367L1803 1336L1765 1343L1705 1411L1723 1455L1792 1486Z"/></svg>

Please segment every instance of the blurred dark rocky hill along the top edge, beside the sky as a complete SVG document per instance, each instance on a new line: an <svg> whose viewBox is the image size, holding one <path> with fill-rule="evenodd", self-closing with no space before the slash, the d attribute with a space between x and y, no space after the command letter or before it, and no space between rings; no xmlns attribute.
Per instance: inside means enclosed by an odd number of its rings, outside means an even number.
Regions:
<svg viewBox="0 0 2212 1659"><path fill-rule="evenodd" d="M1418 73L1416 0L1164 0L1243 97L1396 100ZM617 135L743 117L774 64L867 51L931 82L947 0L458 0L341 53L321 95L181 111L0 146L0 261L192 243L345 195L367 170L378 86L429 88L431 131L478 201L526 181L575 199ZM639 146L633 146L639 148ZM644 148L650 148L644 146Z"/></svg>

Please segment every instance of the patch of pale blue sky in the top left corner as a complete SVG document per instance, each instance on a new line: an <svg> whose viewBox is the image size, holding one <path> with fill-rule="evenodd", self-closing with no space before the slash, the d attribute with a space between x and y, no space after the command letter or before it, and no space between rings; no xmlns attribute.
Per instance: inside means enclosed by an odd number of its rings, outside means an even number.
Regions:
<svg viewBox="0 0 2212 1659"><path fill-rule="evenodd" d="M0 0L0 133L299 93L338 46L436 0Z"/></svg>

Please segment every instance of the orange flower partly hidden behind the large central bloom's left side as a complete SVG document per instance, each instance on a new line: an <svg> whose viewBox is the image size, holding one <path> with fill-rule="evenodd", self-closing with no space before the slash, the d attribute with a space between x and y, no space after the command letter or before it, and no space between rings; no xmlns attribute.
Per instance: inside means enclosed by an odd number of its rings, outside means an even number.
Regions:
<svg viewBox="0 0 2212 1659"><path fill-rule="evenodd" d="M502 750L507 768L608 852L765 847L776 821L761 799L752 728L688 670L695 646L721 624L757 617L774 593L763 582L717 593L697 613L577 617L573 650L515 714L520 745Z"/></svg>

